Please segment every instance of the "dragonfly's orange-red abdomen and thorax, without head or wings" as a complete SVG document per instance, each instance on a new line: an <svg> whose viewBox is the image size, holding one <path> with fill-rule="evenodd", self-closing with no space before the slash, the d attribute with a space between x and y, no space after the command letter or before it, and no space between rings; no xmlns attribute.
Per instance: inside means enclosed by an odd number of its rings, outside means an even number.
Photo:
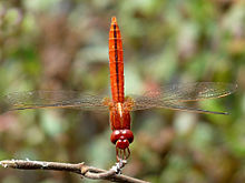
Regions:
<svg viewBox="0 0 245 183"><path fill-rule="evenodd" d="M112 102L110 103L111 130L130 129L129 100L124 92L124 50L116 17L109 31L109 68Z"/></svg>

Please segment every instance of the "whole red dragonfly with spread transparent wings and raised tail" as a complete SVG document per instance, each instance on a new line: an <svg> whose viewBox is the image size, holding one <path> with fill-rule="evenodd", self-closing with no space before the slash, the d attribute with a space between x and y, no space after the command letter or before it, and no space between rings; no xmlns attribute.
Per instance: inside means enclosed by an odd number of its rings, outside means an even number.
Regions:
<svg viewBox="0 0 245 183"><path fill-rule="evenodd" d="M196 108L188 108L185 102L222 98L235 92L237 85L232 83L196 82L164 85L157 91L143 95L125 96L124 57L120 30L116 17L111 18L109 30L109 69L112 98L81 94L76 91L31 91L10 93L3 98L3 111L71 108L80 110L109 110L110 141L116 145L117 161L130 155L129 144L134 141L130 130L130 112L150 108L166 108L198 113L227 114Z"/></svg>

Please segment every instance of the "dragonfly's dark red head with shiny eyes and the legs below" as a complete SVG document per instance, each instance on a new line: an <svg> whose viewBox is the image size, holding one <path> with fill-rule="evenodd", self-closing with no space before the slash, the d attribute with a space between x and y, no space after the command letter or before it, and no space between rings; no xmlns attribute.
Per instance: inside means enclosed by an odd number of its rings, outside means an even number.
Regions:
<svg viewBox="0 0 245 183"><path fill-rule="evenodd" d="M130 155L129 144L134 141L134 134L130 130L115 130L110 135L110 141L116 144L117 160L126 160Z"/></svg>

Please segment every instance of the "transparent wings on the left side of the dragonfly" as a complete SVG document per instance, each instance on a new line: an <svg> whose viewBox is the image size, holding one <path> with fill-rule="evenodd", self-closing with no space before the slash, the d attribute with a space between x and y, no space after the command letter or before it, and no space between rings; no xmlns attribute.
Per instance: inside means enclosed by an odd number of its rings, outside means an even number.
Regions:
<svg viewBox="0 0 245 183"><path fill-rule="evenodd" d="M0 112L39 108L70 108L80 110L108 110L104 96L81 94L76 91L16 92L1 98Z"/></svg>

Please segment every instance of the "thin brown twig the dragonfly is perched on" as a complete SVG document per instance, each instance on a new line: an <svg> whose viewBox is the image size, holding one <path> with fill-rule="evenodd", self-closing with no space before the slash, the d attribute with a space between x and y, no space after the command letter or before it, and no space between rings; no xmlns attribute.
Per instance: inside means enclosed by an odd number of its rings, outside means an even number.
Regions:
<svg viewBox="0 0 245 183"><path fill-rule="evenodd" d="M30 161L30 160L3 160L0 165L3 167L22 169L22 170L51 170L51 171L67 171L81 175L81 177L92 180L108 180L114 182L126 183L147 183L135 177L118 174L125 166L126 162L116 163L109 171L88 166L85 163L71 164L59 162Z"/></svg>

